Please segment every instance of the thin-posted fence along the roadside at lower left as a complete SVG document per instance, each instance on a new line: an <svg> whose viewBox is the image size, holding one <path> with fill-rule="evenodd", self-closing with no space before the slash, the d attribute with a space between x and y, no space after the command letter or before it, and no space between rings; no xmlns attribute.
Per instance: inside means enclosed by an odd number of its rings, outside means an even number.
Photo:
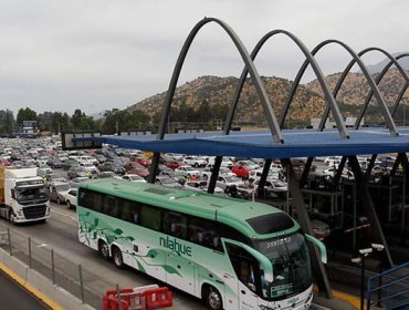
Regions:
<svg viewBox="0 0 409 310"><path fill-rule="evenodd" d="M117 286L86 271L81 265L74 264L31 237L10 228L0 229L2 230L0 248L94 309L102 309L103 293Z"/></svg>

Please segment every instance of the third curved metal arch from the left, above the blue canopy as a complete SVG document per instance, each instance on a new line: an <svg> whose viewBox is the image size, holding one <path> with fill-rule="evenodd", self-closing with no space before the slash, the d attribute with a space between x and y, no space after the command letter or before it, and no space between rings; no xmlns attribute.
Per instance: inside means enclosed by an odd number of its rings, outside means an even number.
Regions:
<svg viewBox="0 0 409 310"><path fill-rule="evenodd" d="M385 117L385 121L386 121L386 123L388 125L388 128L389 128L390 134L391 135L398 135L398 132L396 130L396 125L394 123L394 120L392 120L392 117L391 117L391 115L389 113L388 107L385 104L385 101L384 101L382 96L380 95L380 92L379 92L379 90L378 90L378 87L377 87L374 79L371 78L371 75L370 75L368 69L366 68L366 65L364 64L364 62L354 52L353 49L350 49L347 44L345 44L344 42L338 41L338 40L325 40L325 41L321 42L318 45L316 45L311 53L313 55L315 55L323 46L325 46L325 45L327 45L329 43L336 43L336 44L343 46L354 58L355 62L359 65L359 68L363 71L363 73L364 73L367 82L369 83L370 89L373 90L373 92L374 92L374 94L375 94L375 96L376 96L376 99L378 101L378 104L380 106L381 113L384 114L384 117ZM290 95L287 97L287 101L285 102L285 106L283 108L283 114L281 115L280 122L282 122L285 118L286 114L287 114L287 111L289 111L290 104L292 102L292 99L293 99L293 96L295 94L295 91L296 91L296 89L297 89L297 86L300 84L300 81L301 81L303 74L305 73L305 70L306 70L307 65L308 65L308 62L305 61L303 63L303 65L301 66L298 73L297 73L297 75L296 75L296 78L294 80L293 89L291 90L291 93L290 93ZM322 120L322 122L319 124L319 131L323 131L324 130L324 125L325 125L325 122L323 122L323 120Z"/></svg>

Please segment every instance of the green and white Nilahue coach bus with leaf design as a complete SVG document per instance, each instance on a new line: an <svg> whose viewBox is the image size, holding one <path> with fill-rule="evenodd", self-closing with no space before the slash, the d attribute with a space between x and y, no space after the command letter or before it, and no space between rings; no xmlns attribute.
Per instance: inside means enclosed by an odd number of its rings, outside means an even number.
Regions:
<svg viewBox="0 0 409 310"><path fill-rule="evenodd" d="M118 268L202 298L210 309L311 304L307 239L323 245L280 209L114 178L81 183L77 203L82 244Z"/></svg>

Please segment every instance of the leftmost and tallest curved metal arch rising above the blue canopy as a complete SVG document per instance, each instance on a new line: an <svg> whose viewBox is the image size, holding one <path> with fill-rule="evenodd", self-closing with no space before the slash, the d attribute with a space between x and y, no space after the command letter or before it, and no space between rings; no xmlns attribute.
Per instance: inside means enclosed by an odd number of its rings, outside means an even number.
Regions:
<svg viewBox="0 0 409 310"><path fill-rule="evenodd" d="M193 29L190 31L188 38L185 41L185 44L183 44L183 46L182 46L182 49L179 53L179 58L178 58L177 63L175 65L174 73L172 73L172 76L171 76L171 80L170 80L170 83L169 83L169 89L168 89L168 92L166 94L166 99L165 99L165 102L164 102L164 112L162 112L161 121L160 121L160 124L159 124L158 140L164 140L165 128L167 126L168 115L169 115L169 111L170 111L170 105L171 105L171 102L172 102L172 99L174 99L174 95L175 95L175 90L176 90L177 82L178 82L178 79L179 79L179 75L180 75L180 72L181 72L181 68L183 65L183 62L185 62L186 55L189 51L189 48L190 48L191 43L193 42L193 39L196 38L199 30L204 24L207 24L209 22L216 22L219 25L221 25L221 28L223 28L223 30L229 34L230 39L233 41L235 48L238 49L238 51L240 52L241 58L244 61L247 70L250 72L250 75L253 80L255 90L256 90L256 92L259 94L259 97L261 100L261 103L263 105L263 110L264 110L264 113L266 115L269 127L270 127L270 131L272 133L272 136L273 136L273 138L276 143L283 143L284 141L283 141L283 137L282 137L282 134L281 134L281 131L280 131L280 126L279 126L279 123L275 118L275 115L274 115L273 108L271 106L268 93L266 93L266 91L264 89L264 85L261 81L261 78L260 78L260 75L259 75L259 73L255 69L255 65L254 65L252 59L250 58L249 52L244 48L244 44L241 42L240 38L235 34L235 32L226 22L223 22L219 19L214 19L214 18L204 18L203 20L198 22L193 27Z"/></svg>

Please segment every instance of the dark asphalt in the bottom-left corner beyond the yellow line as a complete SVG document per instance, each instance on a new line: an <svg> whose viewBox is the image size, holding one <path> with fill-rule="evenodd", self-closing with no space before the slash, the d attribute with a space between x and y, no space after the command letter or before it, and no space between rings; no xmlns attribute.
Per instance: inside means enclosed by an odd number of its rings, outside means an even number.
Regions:
<svg viewBox="0 0 409 310"><path fill-rule="evenodd" d="M20 287L14 280L0 271L1 309L44 310L50 309L30 292Z"/></svg>

